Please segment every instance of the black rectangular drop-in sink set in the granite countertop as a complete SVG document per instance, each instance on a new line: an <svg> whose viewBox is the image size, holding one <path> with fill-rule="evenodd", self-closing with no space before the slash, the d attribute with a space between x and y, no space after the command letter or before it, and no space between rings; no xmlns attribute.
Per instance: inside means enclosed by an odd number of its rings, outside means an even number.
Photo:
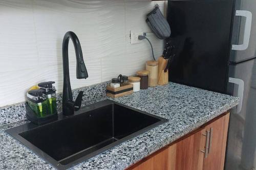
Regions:
<svg viewBox="0 0 256 170"><path fill-rule="evenodd" d="M6 132L54 167L66 169L167 121L111 100L58 116L46 125L28 123Z"/></svg>

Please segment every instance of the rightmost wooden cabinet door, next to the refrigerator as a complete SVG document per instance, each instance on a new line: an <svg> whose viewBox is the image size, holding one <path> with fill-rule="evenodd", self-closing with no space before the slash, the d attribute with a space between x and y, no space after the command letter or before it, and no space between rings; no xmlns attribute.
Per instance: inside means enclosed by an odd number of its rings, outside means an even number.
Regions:
<svg viewBox="0 0 256 170"><path fill-rule="evenodd" d="M205 128L210 132L208 156L204 158L204 170L223 170L226 152L229 113Z"/></svg>

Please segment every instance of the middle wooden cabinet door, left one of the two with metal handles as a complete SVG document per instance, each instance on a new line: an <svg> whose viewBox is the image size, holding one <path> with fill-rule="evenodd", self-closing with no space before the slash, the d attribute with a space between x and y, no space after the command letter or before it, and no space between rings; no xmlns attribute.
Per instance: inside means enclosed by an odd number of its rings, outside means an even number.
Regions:
<svg viewBox="0 0 256 170"><path fill-rule="evenodd" d="M169 147L169 153L175 155L169 160L169 170L201 170L206 137L205 128L200 128L193 135L184 137Z"/></svg>

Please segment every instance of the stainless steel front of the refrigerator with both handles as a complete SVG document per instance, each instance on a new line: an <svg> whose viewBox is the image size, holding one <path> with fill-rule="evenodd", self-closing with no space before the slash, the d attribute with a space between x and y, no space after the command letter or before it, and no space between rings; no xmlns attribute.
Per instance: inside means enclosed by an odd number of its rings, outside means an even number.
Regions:
<svg viewBox="0 0 256 170"><path fill-rule="evenodd" d="M225 169L252 170L256 169L256 1L236 1L234 9L229 77L236 85L227 90L242 101L230 114Z"/></svg>

